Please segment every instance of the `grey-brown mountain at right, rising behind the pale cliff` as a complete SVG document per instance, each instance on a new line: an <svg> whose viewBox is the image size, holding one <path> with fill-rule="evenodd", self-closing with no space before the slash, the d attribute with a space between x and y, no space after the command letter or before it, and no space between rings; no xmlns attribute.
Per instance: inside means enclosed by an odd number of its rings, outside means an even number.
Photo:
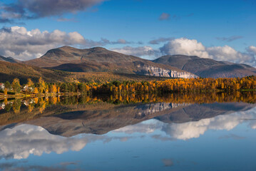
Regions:
<svg viewBox="0 0 256 171"><path fill-rule="evenodd" d="M203 78L232 78L256 76L256 68L245 64L215 61L210 58L198 56L162 56L153 60L154 63L163 63L194 73Z"/></svg>

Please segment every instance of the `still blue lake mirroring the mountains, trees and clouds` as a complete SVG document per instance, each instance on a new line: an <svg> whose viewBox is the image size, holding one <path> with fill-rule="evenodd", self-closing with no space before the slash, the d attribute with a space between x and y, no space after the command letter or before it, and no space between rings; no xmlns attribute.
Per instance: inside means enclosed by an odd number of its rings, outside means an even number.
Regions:
<svg viewBox="0 0 256 171"><path fill-rule="evenodd" d="M256 94L0 100L0 170L256 170Z"/></svg>

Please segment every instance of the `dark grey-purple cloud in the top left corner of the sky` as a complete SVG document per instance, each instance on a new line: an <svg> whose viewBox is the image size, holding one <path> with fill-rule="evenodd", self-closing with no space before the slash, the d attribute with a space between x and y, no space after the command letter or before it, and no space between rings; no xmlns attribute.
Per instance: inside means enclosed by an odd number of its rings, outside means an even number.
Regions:
<svg viewBox="0 0 256 171"><path fill-rule="evenodd" d="M46 16L62 16L67 13L86 11L105 0L17 0L11 4L2 4L0 21L12 22L16 19L39 19Z"/></svg>

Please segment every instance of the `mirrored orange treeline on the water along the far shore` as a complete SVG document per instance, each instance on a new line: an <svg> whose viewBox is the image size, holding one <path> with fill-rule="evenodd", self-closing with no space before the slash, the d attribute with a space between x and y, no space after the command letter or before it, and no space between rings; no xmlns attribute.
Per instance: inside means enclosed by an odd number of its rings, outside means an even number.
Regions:
<svg viewBox="0 0 256 171"><path fill-rule="evenodd" d="M10 99L0 100L0 106L4 106L6 112L13 111L20 113L21 106L26 105L26 113L36 110L43 113L51 105L82 105L84 108L90 108L90 105L103 105L111 103L114 105L130 103L256 103L256 91L235 91L219 93L166 93L158 95L156 93L126 94L126 95L73 95L73 96L51 96L35 97L27 99ZM86 106L87 105L87 106ZM12 110L11 110L12 109ZM0 110L1 111L1 110ZM1 112L0 112L1 113Z"/></svg>

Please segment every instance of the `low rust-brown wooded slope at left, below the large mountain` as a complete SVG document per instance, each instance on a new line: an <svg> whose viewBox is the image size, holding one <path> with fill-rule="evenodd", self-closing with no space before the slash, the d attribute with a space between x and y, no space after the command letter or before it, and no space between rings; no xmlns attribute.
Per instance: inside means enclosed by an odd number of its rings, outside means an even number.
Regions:
<svg viewBox="0 0 256 171"><path fill-rule="evenodd" d="M101 82L106 81L161 81L165 77L139 76L135 74L108 73L108 72L90 72L90 73L73 73L58 71L53 69L39 68L22 63L9 63L0 61L0 83L13 81L19 78L21 84L26 83L28 78L32 81L38 81L42 77L47 82Z"/></svg>

